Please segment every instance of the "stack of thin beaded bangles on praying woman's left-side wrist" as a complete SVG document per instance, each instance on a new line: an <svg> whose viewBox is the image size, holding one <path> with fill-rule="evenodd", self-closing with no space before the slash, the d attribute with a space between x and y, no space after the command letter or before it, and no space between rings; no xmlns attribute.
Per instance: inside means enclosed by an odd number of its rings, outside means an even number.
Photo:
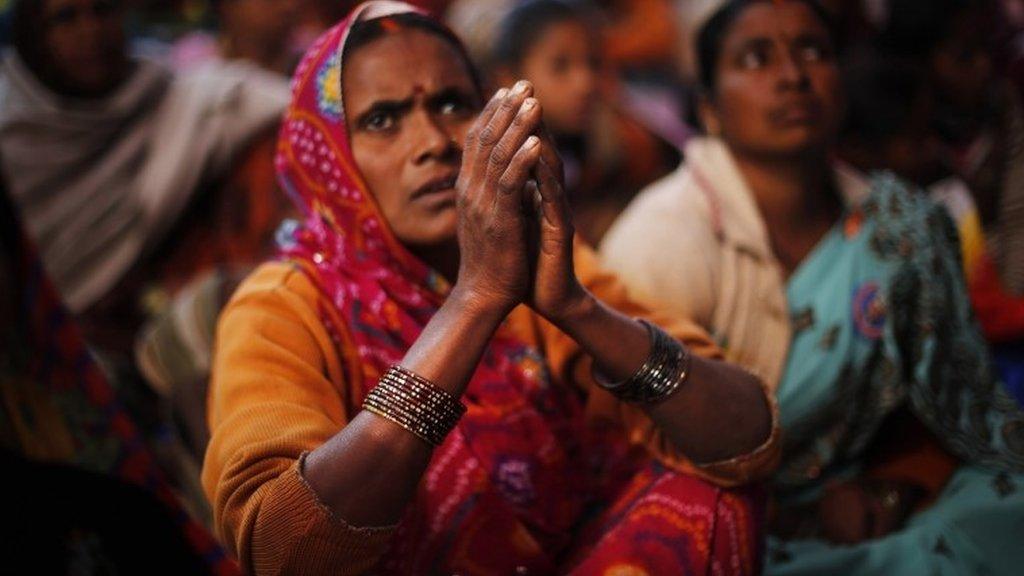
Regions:
<svg viewBox="0 0 1024 576"><path fill-rule="evenodd" d="M466 413L466 406L455 395L397 364L370 390L362 409L391 420L433 446L440 446Z"/></svg>

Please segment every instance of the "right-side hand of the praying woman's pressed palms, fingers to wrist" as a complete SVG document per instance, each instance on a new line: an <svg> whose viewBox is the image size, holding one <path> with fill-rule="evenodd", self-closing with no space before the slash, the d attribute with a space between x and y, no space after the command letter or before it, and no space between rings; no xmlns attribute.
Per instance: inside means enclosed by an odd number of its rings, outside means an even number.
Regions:
<svg viewBox="0 0 1024 576"><path fill-rule="evenodd" d="M527 187L527 194L534 198L524 199L534 205L537 217L528 303L538 314L557 324L557 320L570 315L586 299L586 290L572 266L575 229L565 197L562 161L550 135L543 127L540 132L541 161L535 169L537 190Z"/></svg>

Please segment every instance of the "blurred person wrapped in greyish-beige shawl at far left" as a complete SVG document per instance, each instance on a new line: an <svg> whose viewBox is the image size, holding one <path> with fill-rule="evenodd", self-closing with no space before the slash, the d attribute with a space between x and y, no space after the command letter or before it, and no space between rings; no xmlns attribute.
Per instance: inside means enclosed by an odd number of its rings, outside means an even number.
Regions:
<svg viewBox="0 0 1024 576"><path fill-rule="evenodd" d="M210 191L272 132L288 98L284 79L251 66L175 75L132 57L124 15L119 0L19 1L0 65L11 197L90 339L120 351L140 322L141 286L188 236L176 225L216 204ZM236 219L248 192L234 196ZM189 248L204 260L218 246Z"/></svg>

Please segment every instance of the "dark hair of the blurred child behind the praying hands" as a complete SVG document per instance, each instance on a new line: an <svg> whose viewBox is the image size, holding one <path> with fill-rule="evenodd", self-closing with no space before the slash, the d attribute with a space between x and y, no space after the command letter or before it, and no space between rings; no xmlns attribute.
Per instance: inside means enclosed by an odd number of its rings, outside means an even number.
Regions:
<svg viewBox="0 0 1024 576"><path fill-rule="evenodd" d="M567 0L526 0L502 18L498 38L490 50L495 66L518 68L529 50L552 25L591 20L591 11L583 2Z"/></svg>

